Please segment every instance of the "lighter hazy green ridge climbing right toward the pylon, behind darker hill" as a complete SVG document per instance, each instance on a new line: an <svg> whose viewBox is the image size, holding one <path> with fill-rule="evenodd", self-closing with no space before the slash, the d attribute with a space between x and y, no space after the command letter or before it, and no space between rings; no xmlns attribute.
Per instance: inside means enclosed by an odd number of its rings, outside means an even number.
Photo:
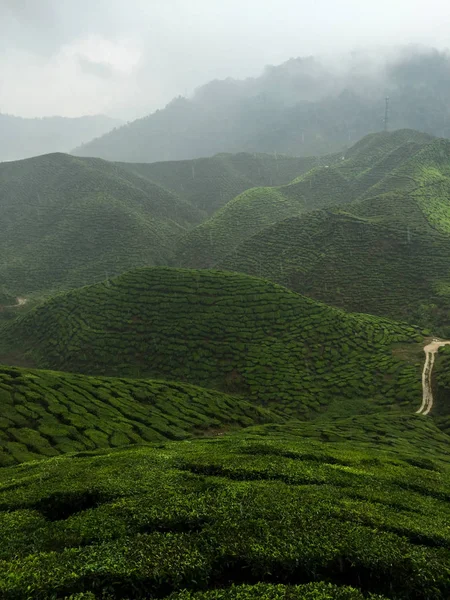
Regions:
<svg viewBox="0 0 450 600"><path fill-rule="evenodd" d="M334 164L315 167L288 185L248 190L180 239L176 264L215 266L257 231L287 217L351 202L371 194L380 181L392 189L395 180L388 176L431 143L432 137L410 130L373 134Z"/></svg>

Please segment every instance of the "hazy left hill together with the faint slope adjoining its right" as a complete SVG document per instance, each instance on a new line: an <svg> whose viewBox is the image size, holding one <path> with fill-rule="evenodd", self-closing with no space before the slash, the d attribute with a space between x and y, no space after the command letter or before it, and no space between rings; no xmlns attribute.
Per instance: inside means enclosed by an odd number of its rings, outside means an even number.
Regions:
<svg viewBox="0 0 450 600"><path fill-rule="evenodd" d="M0 293L48 295L169 264L178 238L217 207L315 162L241 154L135 165L49 154L0 164Z"/></svg>

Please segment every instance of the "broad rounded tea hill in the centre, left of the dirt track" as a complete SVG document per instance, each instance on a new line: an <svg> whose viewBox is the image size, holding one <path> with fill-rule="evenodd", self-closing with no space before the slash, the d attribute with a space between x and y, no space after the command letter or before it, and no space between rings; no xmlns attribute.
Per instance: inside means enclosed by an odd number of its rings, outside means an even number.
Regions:
<svg viewBox="0 0 450 600"><path fill-rule="evenodd" d="M218 271L134 270L49 300L0 339L3 361L188 381L292 414L358 398L409 407L421 396L416 330ZM396 343L412 363L393 355Z"/></svg>

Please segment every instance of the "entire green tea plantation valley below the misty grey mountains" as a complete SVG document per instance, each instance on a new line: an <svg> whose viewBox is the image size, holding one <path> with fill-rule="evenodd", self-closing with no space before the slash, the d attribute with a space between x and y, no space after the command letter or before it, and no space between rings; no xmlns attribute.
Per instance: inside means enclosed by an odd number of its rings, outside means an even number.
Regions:
<svg viewBox="0 0 450 600"><path fill-rule="evenodd" d="M450 143L0 163L0 596L450 595Z"/></svg>

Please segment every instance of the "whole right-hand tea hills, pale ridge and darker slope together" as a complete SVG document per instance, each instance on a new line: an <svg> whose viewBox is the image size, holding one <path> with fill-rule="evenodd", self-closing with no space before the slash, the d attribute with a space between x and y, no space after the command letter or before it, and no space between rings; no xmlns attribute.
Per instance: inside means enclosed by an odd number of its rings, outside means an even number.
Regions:
<svg viewBox="0 0 450 600"><path fill-rule="evenodd" d="M449 164L448 140L367 136L334 165L247 190L180 239L175 264L265 277L449 335Z"/></svg>

